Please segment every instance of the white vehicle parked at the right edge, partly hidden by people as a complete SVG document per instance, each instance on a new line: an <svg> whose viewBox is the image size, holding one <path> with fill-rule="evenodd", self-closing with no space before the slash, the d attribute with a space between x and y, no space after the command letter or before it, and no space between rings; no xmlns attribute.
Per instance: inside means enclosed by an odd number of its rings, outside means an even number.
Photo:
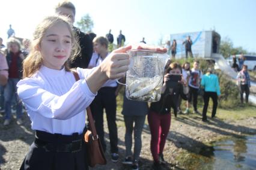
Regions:
<svg viewBox="0 0 256 170"><path fill-rule="evenodd" d="M256 56L253 56L251 54L244 54L243 56L245 57L245 62L243 64L247 65L249 70L256 71ZM240 57L240 54L237 54L236 55L237 65L239 65L239 61L238 61L239 57ZM233 65L233 56L228 57L226 60L230 66Z"/></svg>

